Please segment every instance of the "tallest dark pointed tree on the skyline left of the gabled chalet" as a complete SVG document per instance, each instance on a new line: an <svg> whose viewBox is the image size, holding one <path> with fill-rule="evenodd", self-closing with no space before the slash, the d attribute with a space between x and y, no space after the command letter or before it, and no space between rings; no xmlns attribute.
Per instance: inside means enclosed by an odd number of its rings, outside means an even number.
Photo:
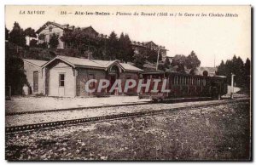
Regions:
<svg viewBox="0 0 256 165"><path fill-rule="evenodd" d="M20 47L26 46L26 36L19 23L15 22L13 30L9 32L9 42L15 43Z"/></svg>

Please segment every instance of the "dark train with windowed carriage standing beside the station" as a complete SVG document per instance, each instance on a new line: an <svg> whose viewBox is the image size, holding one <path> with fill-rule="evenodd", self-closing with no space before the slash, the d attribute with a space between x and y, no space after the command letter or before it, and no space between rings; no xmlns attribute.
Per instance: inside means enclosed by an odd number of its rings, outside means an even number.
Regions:
<svg viewBox="0 0 256 165"><path fill-rule="evenodd" d="M220 100L228 92L227 77L224 76L201 76L189 75L176 71L145 71L141 73L143 83L150 81L149 90L143 88L138 94L139 99L166 100L177 98L212 98ZM154 79L160 79L158 92L152 92ZM160 88L166 79L166 89Z"/></svg>

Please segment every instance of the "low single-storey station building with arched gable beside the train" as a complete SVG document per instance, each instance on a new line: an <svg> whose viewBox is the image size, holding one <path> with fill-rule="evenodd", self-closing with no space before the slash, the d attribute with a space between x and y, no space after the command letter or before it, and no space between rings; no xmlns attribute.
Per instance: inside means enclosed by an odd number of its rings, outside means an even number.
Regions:
<svg viewBox="0 0 256 165"><path fill-rule="evenodd" d="M31 94L60 97L108 95L110 88L86 92L85 83L96 79L97 83L90 84L92 88L97 88L100 79L107 79L111 87L116 79L120 79L124 88L126 79L138 81L139 72L143 71L118 60L90 60L60 55L50 61L24 59L24 70ZM131 88L127 93L113 91L111 94L137 94L137 88Z"/></svg>

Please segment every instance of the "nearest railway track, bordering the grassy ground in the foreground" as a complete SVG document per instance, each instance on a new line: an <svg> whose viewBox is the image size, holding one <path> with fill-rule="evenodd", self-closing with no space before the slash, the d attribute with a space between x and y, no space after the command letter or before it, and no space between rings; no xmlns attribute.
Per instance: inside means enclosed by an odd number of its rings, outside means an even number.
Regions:
<svg viewBox="0 0 256 165"><path fill-rule="evenodd" d="M201 105L191 105L186 107L168 108L168 109L162 109L157 111L139 111L139 112L116 114L116 115L108 115L108 116L102 116L102 117L86 117L86 118L79 118L79 119L72 119L72 120L65 120L65 121L27 124L27 125L20 125L20 126L14 126L14 127L6 127L5 133L12 134L12 133L18 133L23 131L32 131L35 129L42 129L42 128L57 128L57 127L68 126L68 125L76 125L76 124L85 123L85 122L103 122L108 120L117 120L117 119L131 118L131 117L146 117L146 116L161 114L166 111L179 111L179 110L188 109L188 108L195 109L195 108L206 107L206 106L209 107L213 105L224 105L224 104L231 104L231 103L237 103L237 102L245 102L248 100L249 99L229 100L222 103L215 102L215 103L207 103L207 104L201 104Z"/></svg>

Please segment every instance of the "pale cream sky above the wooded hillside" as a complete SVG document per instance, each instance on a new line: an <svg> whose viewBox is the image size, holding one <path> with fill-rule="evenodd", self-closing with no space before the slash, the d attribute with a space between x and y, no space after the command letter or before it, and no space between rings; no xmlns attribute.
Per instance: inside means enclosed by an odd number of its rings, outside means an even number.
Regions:
<svg viewBox="0 0 256 165"><path fill-rule="evenodd" d="M38 11L44 11L44 14ZM72 14L61 14L61 11ZM94 15L75 12L92 12ZM96 15L96 12L110 15ZM138 15L133 15L135 12ZM157 16L160 13L168 16ZM179 14L182 16L177 16ZM237 17L212 17L209 14L236 14ZM38 30L47 21L55 21L70 26L92 26L107 35L111 31L118 35L124 32L133 41L153 41L165 46L168 56L188 55L194 50L201 66L214 66L214 59L215 65L219 65L221 60L232 59L234 54L244 61L251 59L250 6L6 6L6 27L11 30L15 21L23 29Z"/></svg>

